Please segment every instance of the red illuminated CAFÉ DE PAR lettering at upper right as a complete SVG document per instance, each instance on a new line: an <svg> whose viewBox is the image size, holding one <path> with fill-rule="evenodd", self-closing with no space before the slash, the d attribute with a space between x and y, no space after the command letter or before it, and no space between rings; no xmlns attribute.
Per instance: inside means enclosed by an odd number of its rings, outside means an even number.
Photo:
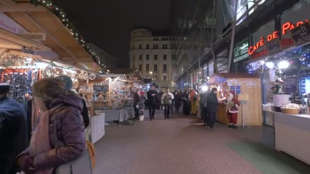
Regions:
<svg viewBox="0 0 310 174"><path fill-rule="evenodd" d="M284 23L282 25L282 28L281 28L281 33L279 34L278 31L275 31L275 32L269 34L267 36L267 42L270 42L270 41L272 41L274 39L277 39L278 36L281 35L281 34L282 35L286 35L289 31L292 31L297 26L302 25L302 24L304 24L306 22L308 22L308 20L306 20L305 22L300 21L300 22L297 22L296 24L292 24L290 22ZM265 43L267 43L267 42L266 42L265 38L262 37L259 42L257 42L255 45L249 47L249 49L248 49L249 55L252 55L257 49L259 49L260 47L264 46Z"/></svg>

